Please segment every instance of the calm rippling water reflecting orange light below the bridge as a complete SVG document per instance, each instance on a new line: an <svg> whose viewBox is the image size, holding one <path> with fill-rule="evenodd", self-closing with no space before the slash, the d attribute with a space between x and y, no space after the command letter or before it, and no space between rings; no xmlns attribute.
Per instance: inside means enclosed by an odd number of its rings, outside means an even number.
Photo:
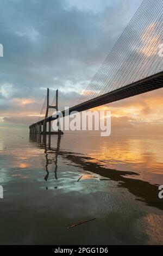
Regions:
<svg viewBox="0 0 163 256"><path fill-rule="evenodd" d="M1 133L0 243L162 244L162 153L163 137Z"/></svg>

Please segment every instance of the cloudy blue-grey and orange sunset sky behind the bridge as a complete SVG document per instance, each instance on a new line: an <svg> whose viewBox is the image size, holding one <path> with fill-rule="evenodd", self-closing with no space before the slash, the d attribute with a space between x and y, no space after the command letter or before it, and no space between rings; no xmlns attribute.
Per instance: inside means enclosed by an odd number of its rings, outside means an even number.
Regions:
<svg viewBox="0 0 163 256"><path fill-rule="evenodd" d="M28 129L46 88L76 103L141 0L1 0L0 131ZM101 106L117 133L162 134L162 89Z"/></svg>

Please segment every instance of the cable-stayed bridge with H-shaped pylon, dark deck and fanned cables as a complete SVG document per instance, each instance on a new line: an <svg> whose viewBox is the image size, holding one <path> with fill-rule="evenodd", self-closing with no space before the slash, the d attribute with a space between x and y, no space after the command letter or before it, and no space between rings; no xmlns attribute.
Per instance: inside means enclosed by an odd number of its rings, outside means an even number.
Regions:
<svg viewBox="0 0 163 256"><path fill-rule="evenodd" d="M68 114L163 87L162 10L162 0L142 2L77 104L70 107ZM48 116L51 108L58 111L58 90L55 105L49 105L47 89L45 117L29 126L30 133L62 134L59 118ZM63 117L67 115L65 111L61 113ZM57 132L51 131L51 122L55 119L58 119Z"/></svg>

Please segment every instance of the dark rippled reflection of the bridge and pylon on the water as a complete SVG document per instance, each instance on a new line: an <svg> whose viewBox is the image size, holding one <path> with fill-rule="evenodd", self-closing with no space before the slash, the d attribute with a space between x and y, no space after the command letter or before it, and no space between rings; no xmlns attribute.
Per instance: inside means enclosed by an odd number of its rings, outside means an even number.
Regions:
<svg viewBox="0 0 163 256"><path fill-rule="evenodd" d="M102 164L92 161L91 157L86 157L78 153L68 152L60 149L61 136L58 136L56 147L51 143L53 135L30 135L30 142L35 143L35 147L41 148L45 153L45 180L49 176L49 164L54 165L54 177L59 181L57 176L58 157L66 159L67 164L76 164L77 167L82 168L86 173L93 173L101 175L104 179L118 182L118 187L127 188L137 200L144 202L149 206L156 207L163 210L162 201L158 197L158 185L150 184L147 181L139 180L139 174L136 172L127 172L123 170L110 169L102 166ZM55 137L56 138L56 137ZM132 176L137 175L137 179ZM99 180L103 182L103 180Z"/></svg>

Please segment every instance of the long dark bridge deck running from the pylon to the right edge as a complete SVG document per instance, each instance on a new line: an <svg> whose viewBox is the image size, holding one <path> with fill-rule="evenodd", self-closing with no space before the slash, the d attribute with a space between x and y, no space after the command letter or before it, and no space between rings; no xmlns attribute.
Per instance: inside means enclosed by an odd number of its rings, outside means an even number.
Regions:
<svg viewBox="0 0 163 256"><path fill-rule="evenodd" d="M142 93L147 93L162 87L163 87L163 71L159 72L158 74L144 78L140 81L128 84L127 86L114 90L110 93L103 94L102 96L95 97L94 99L91 99L89 101L80 103L79 105L73 106L69 109L69 112L70 114L73 111L81 112L93 107L104 105L106 103L111 103L118 100L126 99L127 97L139 95ZM67 113L65 111L62 111L62 115L65 116L67 115ZM55 119L56 118L53 118L51 116L46 119L46 122L50 120L55 120ZM43 123L44 121L45 119L42 119L37 123L30 125L29 128L31 128L36 124Z"/></svg>

